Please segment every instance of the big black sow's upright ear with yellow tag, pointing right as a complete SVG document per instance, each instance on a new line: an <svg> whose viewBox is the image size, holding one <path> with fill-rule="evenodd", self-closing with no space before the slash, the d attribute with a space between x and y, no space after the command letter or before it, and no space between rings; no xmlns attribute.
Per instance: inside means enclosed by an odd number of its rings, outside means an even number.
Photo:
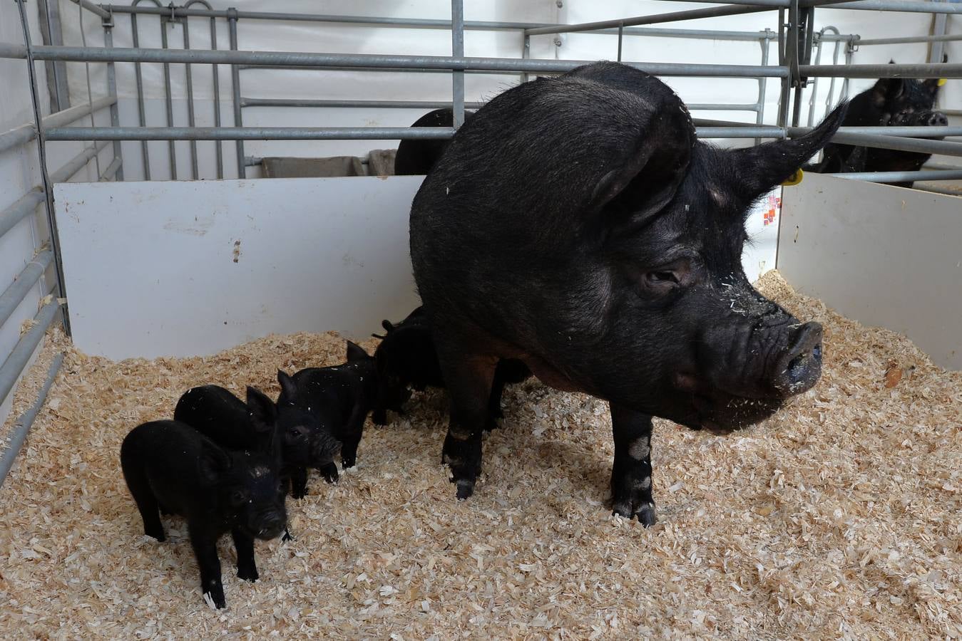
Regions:
<svg viewBox="0 0 962 641"><path fill-rule="evenodd" d="M727 164L737 180L732 191L741 195L747 207L775 185L784 183L835 135L847 110L848 102L843 102L825 116L822 124L804 136L728 151Z"/></svg>

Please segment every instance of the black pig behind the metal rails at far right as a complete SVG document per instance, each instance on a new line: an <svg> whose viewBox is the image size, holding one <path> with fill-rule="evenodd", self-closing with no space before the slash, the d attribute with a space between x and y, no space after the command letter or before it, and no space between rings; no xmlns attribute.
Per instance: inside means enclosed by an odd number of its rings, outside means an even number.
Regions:
<svg viewBox="0 0 962 641"><path fill-rule="evenodd" d="M942 62L947 62L946 58ZM871 89L851 99L843 127L907 127L949 124L949 118L935 111L939 80L919 81L909 78L882 78ZM936 138L932 138L936 139ZM941 137L937 138L941 139ZM822 160L805 167L817 173L849 173L854 171L918 171L931 154L917 154L894 149L853 147L829 144ZM895 183L910 187L912 182Z"/></svg>

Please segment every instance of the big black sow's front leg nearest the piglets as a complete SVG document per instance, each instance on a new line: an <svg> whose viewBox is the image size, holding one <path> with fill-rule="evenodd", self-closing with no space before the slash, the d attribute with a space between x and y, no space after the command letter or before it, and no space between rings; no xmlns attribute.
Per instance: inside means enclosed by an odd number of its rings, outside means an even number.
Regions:
<svg viewBox="0 0 962 641"><path fill-rule="evenodd" d="M457 485L458 499L464 500L474 493L474 482L481 473L481 434L488 422L497 360L446 351L441 362L451 395L451 419L441 461L450 466L451 482Z"/></svg>

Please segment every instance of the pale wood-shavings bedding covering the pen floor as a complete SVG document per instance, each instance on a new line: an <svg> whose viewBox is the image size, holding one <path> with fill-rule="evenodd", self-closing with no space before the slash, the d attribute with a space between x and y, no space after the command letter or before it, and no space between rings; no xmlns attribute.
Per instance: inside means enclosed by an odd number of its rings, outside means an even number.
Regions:
<svg viewBox="0 0 962 641"><path fill-rule="evenodd" d="M0 491L4 638L919 638L962 634L962 374L776 276L763 289L825 325L816 388L716 437L659 421L659 524L612 517L606 406L529 382L506 393L467 503L440 465L442 393L368 427L359 465L289 503L292 543L257 544L262 579L201 599L183 521L144 537L120 440L204 382L271 393L277 367L342 359L334 335L271 336L215 357L112 362L67 352ZM370 343L367 344L370 347ZM900 378L899 378L900 377ZM369 424L368 424L369 426Z"/></svg>

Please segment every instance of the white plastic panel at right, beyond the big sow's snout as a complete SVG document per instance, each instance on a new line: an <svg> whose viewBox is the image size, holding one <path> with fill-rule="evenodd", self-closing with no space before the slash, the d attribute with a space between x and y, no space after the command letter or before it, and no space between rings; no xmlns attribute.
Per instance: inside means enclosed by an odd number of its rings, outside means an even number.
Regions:
<svg viewBox="0 0 962 641"><path fill-rule="evenodd" d="M785 187L778 270L962 369L962 198L805 174Z"/></svg>

